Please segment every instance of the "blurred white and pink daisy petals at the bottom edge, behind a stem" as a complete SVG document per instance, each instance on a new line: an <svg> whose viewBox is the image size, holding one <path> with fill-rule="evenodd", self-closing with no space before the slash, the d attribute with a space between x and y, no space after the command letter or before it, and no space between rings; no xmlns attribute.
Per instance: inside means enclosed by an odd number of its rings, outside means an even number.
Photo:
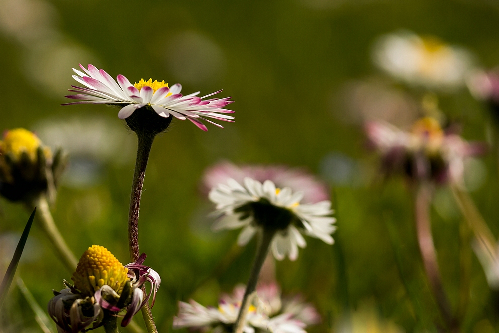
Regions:
<svg viewBox="0 0 499 333"><path fill-rule="evenodd" d="M304 328L320 321L315 308L303 302L301 297L282 300L280 289L275 283L260 285L256 291L258 297L254 305L250 306L246 317L243 329L245 333L254 333L256 330L306 333ZM194 300L189 303L179 302L179 313L173 319L173 327L201 332L213 328L213 332L223 332L223 326L236 322L244 292L245 286L236 286L232 295L221 296L218 308L204 307Z"/></svg>

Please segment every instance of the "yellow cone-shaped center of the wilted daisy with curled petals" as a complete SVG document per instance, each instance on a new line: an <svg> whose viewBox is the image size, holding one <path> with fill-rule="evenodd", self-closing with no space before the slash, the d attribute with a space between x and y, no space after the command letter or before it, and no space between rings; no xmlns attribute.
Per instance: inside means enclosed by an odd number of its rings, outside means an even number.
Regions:
<svg viewBox="0 0 499 333"><path fill-rule="evenodd" d="M103 246L92 245L83 253L71 280L83 293L93 295L100 287L108 285L121 294L128 281L128 268Z"/></svg>

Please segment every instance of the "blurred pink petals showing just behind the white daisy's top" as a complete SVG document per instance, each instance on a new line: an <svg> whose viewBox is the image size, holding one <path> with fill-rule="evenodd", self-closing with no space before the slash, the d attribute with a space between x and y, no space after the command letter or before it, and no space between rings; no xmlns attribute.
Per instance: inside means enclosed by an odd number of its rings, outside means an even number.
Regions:
<svg viewBox="0 0 499 333"><path fill-rule="evenodd" d="M237 166L228 161L217 163L206 170L203 175L203 191L208 193L218 184L225 184L229 178L241 184L245 177L250 177L261 183L269 179L278 188L289 187L293 191L302 191L303 203L315 203L329 198L327 186L303 169L289 168L283 165L247 164Z"/></svg>

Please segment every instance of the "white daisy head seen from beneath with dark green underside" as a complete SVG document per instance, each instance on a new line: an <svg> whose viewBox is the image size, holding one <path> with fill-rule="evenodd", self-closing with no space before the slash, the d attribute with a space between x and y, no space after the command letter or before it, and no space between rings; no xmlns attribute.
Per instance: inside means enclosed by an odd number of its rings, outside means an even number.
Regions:
<svg viewBox="0 0 499 333"><path fill-rule="evenodd" d="M238 237L242 246L261 228L275 230L271 248L278 260L286 255L296 260L298 247L306 246L301 233L333 244L331 233L336 230L336 219L330 216L330 201L301 204L302 191L276 188L271 180L262 184L246 177L243 184L231 178L210 191L208 197L217 205L214 215L219 217L213 225L215 231L243 228Z"/></svg>

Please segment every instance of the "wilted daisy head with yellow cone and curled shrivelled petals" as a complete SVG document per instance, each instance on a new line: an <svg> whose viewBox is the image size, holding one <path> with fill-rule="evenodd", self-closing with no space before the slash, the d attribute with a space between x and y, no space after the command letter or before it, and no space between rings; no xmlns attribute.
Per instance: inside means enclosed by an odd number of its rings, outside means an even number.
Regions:
<svg viewBox="0 0 499 333"><path fill-rule="evenodd" d="M126 326L151 297L154 305L161 280L158 273L142 265L145 258L142 254L137 262L123 266L106 248L89 247L71 278L74 285L64 281L66 288L54 291L48 303L59 332L85 332L99 326L117 332L118 316L123 316L121 326ZM141 288L146 282L151 284L147 294Z"/></svg>

